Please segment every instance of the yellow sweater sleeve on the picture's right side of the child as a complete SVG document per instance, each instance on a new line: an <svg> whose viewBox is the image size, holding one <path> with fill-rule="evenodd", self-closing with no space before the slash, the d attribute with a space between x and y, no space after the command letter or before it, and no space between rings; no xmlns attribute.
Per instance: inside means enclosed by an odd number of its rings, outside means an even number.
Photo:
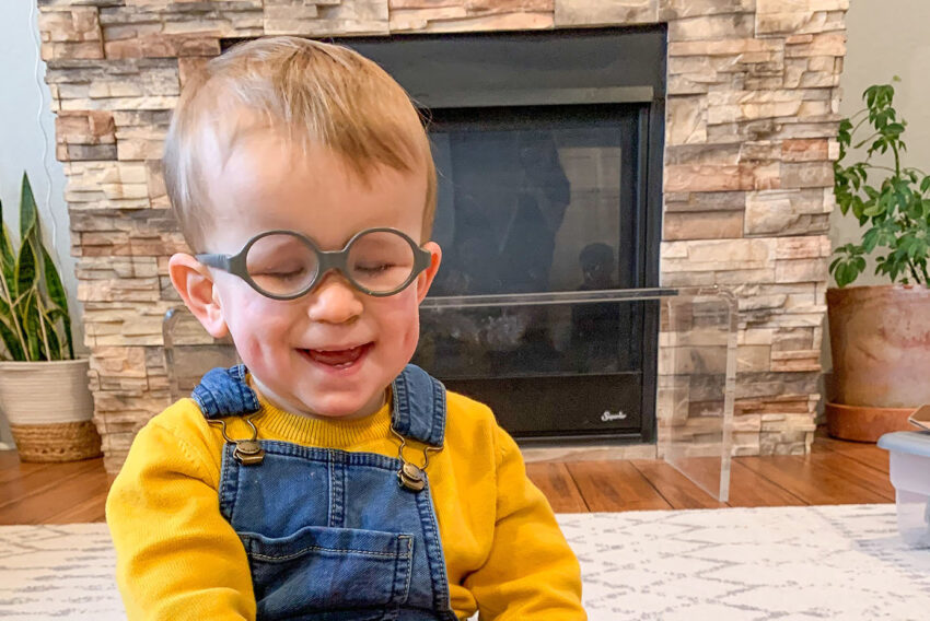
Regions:
<svg viewBox="0 0 930 621"><path fill-rule="evenodd" d="M584 621L581 569L549 502L526 477L516 443L500 427L497 516L487 561L465 579L481 621Z"/></svg>

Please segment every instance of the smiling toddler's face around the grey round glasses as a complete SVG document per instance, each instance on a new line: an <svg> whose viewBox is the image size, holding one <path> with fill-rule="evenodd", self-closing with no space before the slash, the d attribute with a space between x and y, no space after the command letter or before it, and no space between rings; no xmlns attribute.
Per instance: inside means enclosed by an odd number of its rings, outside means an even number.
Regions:
<svg viewBox="0 0 930 621"><path fill-rule="evenodd" d="M322 147L306 152L270 131L242 138L209 179L207 250L234 255L274 229L303 233L322 250L339 250L359 231L398 229L421 243L426 175L382 168L365 186ZM407 289L372 297L329 272L306 295L268 298L245 281L211 270L213 297L258 390L278 406L319 417L363 417L414 355L418 305L439 267Z"/></svg>

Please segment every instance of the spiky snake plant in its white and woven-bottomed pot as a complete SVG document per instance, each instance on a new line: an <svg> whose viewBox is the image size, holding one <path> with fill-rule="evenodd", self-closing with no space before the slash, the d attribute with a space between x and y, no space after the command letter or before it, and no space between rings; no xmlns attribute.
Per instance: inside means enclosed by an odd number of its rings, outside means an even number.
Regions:
<svg viewBox="0 0 930 621"><path fill-rule="evenodd" d="M0 204L0 219L2 204ZM38 210L23 174L20 248L0 232L0 406L23 461L101 454L88 387L89 361L74 360L61 278L42 243Z"/></svg>

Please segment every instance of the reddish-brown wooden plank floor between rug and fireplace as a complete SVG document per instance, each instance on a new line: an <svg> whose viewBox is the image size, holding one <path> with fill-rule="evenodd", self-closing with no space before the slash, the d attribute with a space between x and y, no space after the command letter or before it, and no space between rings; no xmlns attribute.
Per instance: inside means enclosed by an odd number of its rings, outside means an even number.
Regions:
<svg viewBox="0 0 930 621"><path fill-rule="evenodd" d="M664 461L527 465L557 513L894 502L888 455L818 433L807 456L737 457L722 504ZM0 525L101 522L108 481L102 459L21 464L0 452Z"/></svg>

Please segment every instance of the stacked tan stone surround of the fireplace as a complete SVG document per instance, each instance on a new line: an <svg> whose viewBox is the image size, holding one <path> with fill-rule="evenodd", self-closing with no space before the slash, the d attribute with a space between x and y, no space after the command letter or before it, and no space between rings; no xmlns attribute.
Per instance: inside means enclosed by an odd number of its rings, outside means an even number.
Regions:
<svg viewBox="0 0 930 621"><path fill-rule="evenodd" d="M740 300L734 450L801 453L819 399L848 0L38 0L58 159L116 471L168 400L162 318L185 250L160 171L181 86L232 40L665 24L659 281ZM659 410L662 425L663 411Z"/></svg>

